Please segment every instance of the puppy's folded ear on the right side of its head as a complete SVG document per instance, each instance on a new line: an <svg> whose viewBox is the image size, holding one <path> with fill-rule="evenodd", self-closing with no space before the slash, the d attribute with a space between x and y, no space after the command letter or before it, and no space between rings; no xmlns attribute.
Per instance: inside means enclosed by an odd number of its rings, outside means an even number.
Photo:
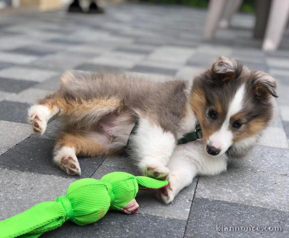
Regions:
<svg viewBox="0 0 289 238"><path fill-rule="evenodd" d="M262 71L253 71L252 76L252 87L257 97L262 98L272 95L278 98L276 93L277 82L271 75Z"/></svg>

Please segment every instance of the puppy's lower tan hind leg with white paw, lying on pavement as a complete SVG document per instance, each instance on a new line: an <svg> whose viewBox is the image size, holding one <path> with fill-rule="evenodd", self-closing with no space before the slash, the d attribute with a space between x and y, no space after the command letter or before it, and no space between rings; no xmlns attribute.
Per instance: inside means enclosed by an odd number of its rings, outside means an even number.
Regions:
<svg viewBox="0 0 289 238"><path fill-rule="evenodd" d="M76 155L107 154L110 140L99 132L62 131L54 148L53 161L68 175L81 175Z"/></svg>

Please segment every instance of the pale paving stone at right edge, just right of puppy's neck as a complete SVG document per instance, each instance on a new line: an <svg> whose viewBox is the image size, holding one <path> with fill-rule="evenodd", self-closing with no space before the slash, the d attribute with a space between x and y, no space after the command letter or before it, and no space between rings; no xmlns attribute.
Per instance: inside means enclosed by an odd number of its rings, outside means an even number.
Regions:
<svg viewBox="0 0 289 238"><path fill-rule="evenodd" d="M272 136L274 135L274 136ZM288 149L288 143L286 139L286 133L283 128L280 127L268 127L264 130L259 142L259 145L271 146L277 148Z"/></svg>

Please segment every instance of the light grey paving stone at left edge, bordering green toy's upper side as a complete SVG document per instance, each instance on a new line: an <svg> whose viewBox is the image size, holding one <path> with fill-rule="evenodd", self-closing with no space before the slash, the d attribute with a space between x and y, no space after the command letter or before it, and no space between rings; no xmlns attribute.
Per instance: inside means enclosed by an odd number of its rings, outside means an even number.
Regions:
<svg viewBox="0 0 289 238"><path fill-rule="evenodd" d="M23 212L39 202L55 200L65 194L73 180L0 168L0 220Z"/></svg>

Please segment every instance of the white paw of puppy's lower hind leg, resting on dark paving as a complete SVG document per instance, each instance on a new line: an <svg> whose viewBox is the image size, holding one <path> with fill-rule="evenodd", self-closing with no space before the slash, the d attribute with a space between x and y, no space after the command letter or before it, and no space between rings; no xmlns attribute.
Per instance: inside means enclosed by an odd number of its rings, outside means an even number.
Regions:
<svg viewBox="0 0 289 238"><path fill-rule="evenodd" d="M75 155L75 150L70 147L62 147L56 152L54 162L68 175L81 176L81 169Z"/></svg>

